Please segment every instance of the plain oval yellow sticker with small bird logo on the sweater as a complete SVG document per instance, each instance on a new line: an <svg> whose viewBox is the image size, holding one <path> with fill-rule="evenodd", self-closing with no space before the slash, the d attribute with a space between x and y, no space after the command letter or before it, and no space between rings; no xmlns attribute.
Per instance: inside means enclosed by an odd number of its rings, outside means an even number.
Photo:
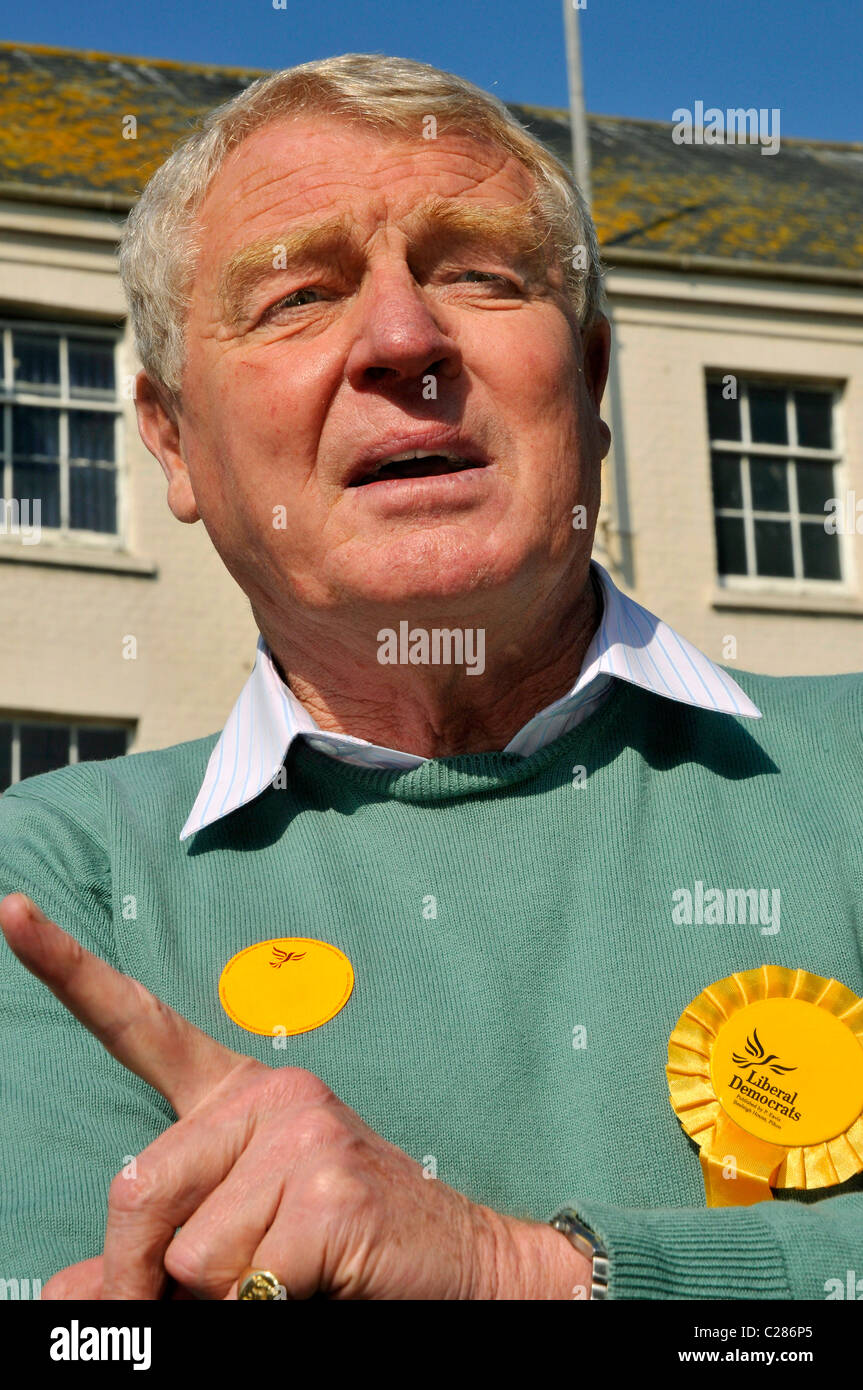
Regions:
<svg viewBox="0 0 863 1390"><path fill-rule="evenodd" d="M231 956L218 981L222 1009L265 1037L309 1033L343 1009L353 966L343 951L310 937L258 941Z"/></svg>

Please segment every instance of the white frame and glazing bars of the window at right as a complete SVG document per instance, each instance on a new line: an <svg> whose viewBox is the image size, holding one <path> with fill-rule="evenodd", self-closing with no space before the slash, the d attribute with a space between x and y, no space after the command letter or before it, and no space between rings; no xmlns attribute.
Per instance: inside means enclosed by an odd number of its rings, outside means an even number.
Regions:
<svg viewBox="0 0 863 1390"><path fill-rule="evenodd" d="M710 417L707 413L707 386L710 384L718 384L724 381L725 377L734 377L738 384L738 400L741 406L741 438L739 439L721 439L713 438L710 434ZM755 443L750 438L750 416L749 416L749 386L767 386L771 389L780 389L785 393L785 421L787 421L787 435L788 443ZM796 495L796 471L794 468L787 470L788 475L788 512L764 512L762 507L755 507L752 503L752 480L749 470L749 459L764 456L764 457L781 457L785 463L794 461L796 459L806 461L819 463L832 463L832 478L834 478L834 496L842 498L849 488L848 482L848 452L845 448L845 430L844 430L844 395L846 382L837 381L834 377L817 378L810 375L798 375L795 373L764 373L764 371L746 371L746 370L732 370L731 367L714 367L705 366L702 377L703 388L703 409L706 421L706 435L707 435L707 488L710 496L710 518L712 518L712 543L713 543L713 578L714 584L720 591L738 591L752 595L778 595L785 598L853 598L857 594L856 573L853 566L853 537L844 535L842 532L835 532L835 541L838 546L839 557L839 578L838 580L817 580L809 578L802 574L802 545L800 545L800 516L806 520L812 520L816 513L805 512L800 513ZM794 392L795 391L817 391L821 395L830 396L830 411L831 411L831 425L832 425L832 448L831 449L812 449L802 445L794 443L791 441L796 439L796 414L794 409ZM737 456L741 464L741 488L743 493L743 506L737 507L720 507L716 505L716 495L713 491L713 453L727 453ZM791 524L791 548L795 566L794 575L781 574L723 574L718 567L718 545L716 539L716 518L717 516L741 517L743 520L743 538L746 546L746 562L752 563L755 560L755 521L756 520L781 520L788 518ZM823 513L823 520L827 520L828 513Z"/></svg>

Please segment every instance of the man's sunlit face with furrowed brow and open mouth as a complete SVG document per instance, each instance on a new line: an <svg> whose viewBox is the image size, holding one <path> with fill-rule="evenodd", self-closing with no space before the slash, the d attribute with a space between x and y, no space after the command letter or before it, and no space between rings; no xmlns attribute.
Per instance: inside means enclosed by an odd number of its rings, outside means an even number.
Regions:
<svg viewBox="0 0 863 1390"><path fill-rule="evenodd" d="M203 517L258 617L511 599L586 564L607 328L582 343L549 243L511 225L531 189L486 142L322 117L260 129L222 165L199 214L172 505ZM414 449L474 466L367 481Z"/></svg>

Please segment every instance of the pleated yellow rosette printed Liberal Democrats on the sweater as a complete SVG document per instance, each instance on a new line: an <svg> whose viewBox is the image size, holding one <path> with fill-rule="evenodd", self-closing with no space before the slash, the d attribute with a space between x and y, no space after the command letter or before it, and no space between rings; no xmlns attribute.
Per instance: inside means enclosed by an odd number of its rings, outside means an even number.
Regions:
<svg viewBox="0 0 863 1390"><path fill-rule="evenodd" d="M666 1074L707 1207L863 1172L863 999L838 980L778 965L717 980L677 1020Z"/></svg>

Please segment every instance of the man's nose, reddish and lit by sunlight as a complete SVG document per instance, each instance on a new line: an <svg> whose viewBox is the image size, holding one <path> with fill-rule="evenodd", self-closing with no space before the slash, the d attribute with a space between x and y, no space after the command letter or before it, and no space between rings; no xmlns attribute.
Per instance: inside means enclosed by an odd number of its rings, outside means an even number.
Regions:
<svg viewBox="0 0 863 1390"><path fill-rule="evenodd" d="M372 267L356 307L359 329L345 367L356 391L421 385L424 377L453 378L461 371L459 345L403 261Z"/></svg>

